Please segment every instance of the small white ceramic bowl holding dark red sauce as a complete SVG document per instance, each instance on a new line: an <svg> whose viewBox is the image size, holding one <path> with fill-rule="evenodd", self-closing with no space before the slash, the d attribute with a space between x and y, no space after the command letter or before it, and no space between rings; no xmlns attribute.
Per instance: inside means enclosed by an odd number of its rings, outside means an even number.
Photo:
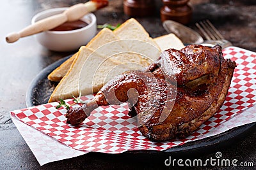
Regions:
<svg viewBox="0 0 256 170"><path fill-rule="evenodd" d="M52 8L50 10L42 11L36 14L31 23L35 24L36 21L42 20L45 17L56 15L67 10L67 8ZM97 31L96 17L93 13L88 13L81 18L88 25L81 29L72 31L45 31L35 34L37 41L48 48L58 52L68 52L79 49L80 46L86 45L90 39L95 36Z"/></svg>

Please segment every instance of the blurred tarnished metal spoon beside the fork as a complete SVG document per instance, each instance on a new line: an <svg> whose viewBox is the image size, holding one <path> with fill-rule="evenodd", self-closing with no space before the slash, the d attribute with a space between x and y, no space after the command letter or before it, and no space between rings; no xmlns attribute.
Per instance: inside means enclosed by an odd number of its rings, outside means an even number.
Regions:
<svg viewBox="0 0 256 170"><path fill-rule="evenodd" d="M173 20L165 20L163 27L168 33L174 33L184 44L200 44L204 39L193 29Z"/></svg>

